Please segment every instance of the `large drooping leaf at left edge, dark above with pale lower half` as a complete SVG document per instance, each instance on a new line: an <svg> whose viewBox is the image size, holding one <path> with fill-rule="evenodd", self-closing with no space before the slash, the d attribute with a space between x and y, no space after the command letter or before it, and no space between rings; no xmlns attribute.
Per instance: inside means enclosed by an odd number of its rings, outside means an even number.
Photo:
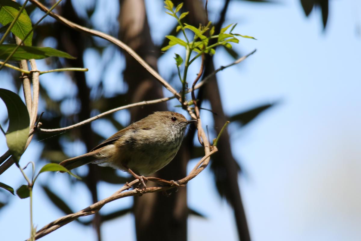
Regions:
<svg viewBox="0 0 361 241"><path fill-rule="evenodd" d="M20 97L10 90L0 89L0 98L8 109L9 127L6 131L6 144L16 162L23 154L29 135L29 113Z"/></svg>

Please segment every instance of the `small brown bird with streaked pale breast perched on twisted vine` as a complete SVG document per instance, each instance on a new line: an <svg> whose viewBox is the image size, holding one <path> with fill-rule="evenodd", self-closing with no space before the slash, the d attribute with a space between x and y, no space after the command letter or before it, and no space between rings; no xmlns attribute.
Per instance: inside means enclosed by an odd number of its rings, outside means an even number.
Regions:
<svg viewBox="0 0 361 241"><path fill-rule="evenodd" d="M162 169L177 154L188 124L182 114L171 111L154 112L94 147L90 152L60 163L71 170L95 163L129 172L145 187L148 176ZM143 180L144 179L144 180Z"/></svg>

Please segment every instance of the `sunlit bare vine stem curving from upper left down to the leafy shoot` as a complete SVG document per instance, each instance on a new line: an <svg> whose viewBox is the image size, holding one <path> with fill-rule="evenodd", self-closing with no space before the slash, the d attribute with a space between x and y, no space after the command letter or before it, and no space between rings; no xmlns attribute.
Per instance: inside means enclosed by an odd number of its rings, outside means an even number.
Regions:
<svg viewBox="0 0 361 241"><path fill-rule="evenodd" d="M36 5L38 8L40 8L40 10L42 10L43 12L48 11L48 8L45 7L43 4L41 4L39 1L30 0L30 2L33 3L34 5ZM121 47L124 51L129 53L136 61L138 61L139 64L141 64L146 70L148 70L148 72L151 73L152 76L154 76L167 90L169 90L173 95L177 96L178 99L181 98L181 95L179 95L179 93L164 78L162 78L160 76L160 74L158 74L158 72L156 72L156 70L154 70L151 66L149 66L147 64L147 62L145 62L134 50L132 50L129 46L127 46L125 43L123 43L119 39L114 38L113 36L110 36L108 34L102 33L101 31L88 29L87 27L83 27L81 25L73 23L73 22L67 20L66 18L61 17L60 15L53 13L53 12L50 12L49 16L55 18L60 23L66 25L66 26L69 26L72 29L82 31L84 33L88 33L88 34L91 34L94 36L98 36L100 38L108 40L109 42L112 42L112 43L116 44L117 46Z"/></svg>

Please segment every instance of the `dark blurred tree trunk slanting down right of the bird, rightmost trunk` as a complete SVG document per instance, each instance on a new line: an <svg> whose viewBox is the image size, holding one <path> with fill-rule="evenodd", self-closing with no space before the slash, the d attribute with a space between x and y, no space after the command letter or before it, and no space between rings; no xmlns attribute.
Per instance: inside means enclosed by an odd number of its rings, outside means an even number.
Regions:
<svg viewBox="0 0 361 241"><path fill-rule="evenodd" d="M215 33L219 33L227 13L229 0L225 0L223 9L219 14L219 20L215 25ZM185 7L189 10L189 20L191 25L198 26L199 23L206 24L206 14L203 1L185 0ZM211 43L210 43L211 44ZM214 71L213 56L207 56L205 60L204 76L208 76ZM213 115L214 127L217 132L227 121L227 117L223 112L222 99L219 94L217 77L210 78L208 83L199 90L197 99L208 99L212 107L212 111L217 115ZM238 163L234 159L231 151L231 144L227 130L223 132L218 142L218 152L211 158L211 168L215 175L215 182L218 192L225 197L234 210L238 237L242 241L251 240L247 219L245 216L242 198L238 185L238 172L240 170Z"/></svg>

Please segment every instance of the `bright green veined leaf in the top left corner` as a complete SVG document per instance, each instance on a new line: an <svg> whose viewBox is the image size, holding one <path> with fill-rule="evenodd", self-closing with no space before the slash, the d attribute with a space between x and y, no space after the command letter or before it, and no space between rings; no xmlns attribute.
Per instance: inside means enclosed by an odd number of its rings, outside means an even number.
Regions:
<svg viewBox="0 0 361 241"><path fill-rule="evenodd" d="M0 1L0 23L6 25L14 20L17 16L21 5L12 0ZM18 20L15 22L11 32L18 36L20 39L24 39L32 29L31 20L27 15L25 9L22 10ZM31 46L32 33L25 39L24 44Z"/></svg>

